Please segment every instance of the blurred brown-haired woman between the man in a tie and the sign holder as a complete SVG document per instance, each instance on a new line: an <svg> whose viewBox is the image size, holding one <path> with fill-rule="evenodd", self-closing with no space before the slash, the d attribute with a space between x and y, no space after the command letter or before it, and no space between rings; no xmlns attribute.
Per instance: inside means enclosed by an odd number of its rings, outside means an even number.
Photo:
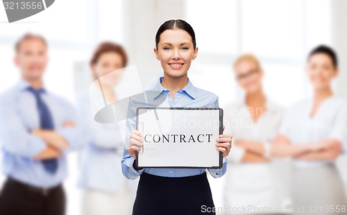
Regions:
<svg viewBox="0 0 347 215"><path fill-rule="evenodd" d="M115 86L119 83L126 67L127 55L124 48L112 42L103 42L94 51L90 60L92 77L102 85L101 94L105 102L115 103ZM94 121L90 95L78 95L78 109L90 137L82 159L81 175L78 180L83 193L83 215L130 214L135 196L134 181L126 180L121 173L124 130L118 123L104 124Z"/></svg>

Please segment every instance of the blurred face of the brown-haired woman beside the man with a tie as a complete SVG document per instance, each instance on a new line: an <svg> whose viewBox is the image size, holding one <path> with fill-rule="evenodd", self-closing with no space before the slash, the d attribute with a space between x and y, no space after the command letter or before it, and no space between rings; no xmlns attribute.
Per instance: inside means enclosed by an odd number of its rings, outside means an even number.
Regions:
<svg viewBox="0 0 347 215"><path fill-rule="evenodd" d="M103 85L110 86L119 83L122 75L121 68L123 68L123 58L114 51L102 53L92 66L96 77L101 79Z"/></svg>

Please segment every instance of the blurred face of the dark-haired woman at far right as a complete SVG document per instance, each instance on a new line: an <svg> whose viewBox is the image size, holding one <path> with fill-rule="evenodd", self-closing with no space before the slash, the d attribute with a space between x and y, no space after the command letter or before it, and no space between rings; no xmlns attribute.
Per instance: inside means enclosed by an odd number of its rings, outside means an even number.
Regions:
<svg viewBox="0 0 347 215"><path fill-rule="evenodd" d="M332 59L325 53L312 55L307 62L306 71L314 89L330 87L332 78L335 78L338 73Z"/></svg>

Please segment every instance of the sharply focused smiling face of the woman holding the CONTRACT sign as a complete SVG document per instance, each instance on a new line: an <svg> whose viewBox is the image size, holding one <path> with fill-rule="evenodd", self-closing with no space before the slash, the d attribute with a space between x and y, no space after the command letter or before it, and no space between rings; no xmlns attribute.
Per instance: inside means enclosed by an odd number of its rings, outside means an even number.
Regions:
<svg viewBox="0 0 347 215"><path fill-rule="evenodd" d="M160 35L158 49L154 48L154 53L164 73L177 78L187 74L198 48L194 49L192 37L186 31L166 30Z"/></svg>

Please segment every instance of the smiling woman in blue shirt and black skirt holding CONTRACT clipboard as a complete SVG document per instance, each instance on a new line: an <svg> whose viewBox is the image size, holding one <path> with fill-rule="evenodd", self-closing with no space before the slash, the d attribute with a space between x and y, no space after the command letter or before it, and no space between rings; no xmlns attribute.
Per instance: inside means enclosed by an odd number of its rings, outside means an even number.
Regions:
<svg viewBox="0 0 347 215"><path fill-rule="evenodd" d="M218 96L204 89L194 87L187 72L196 58L195 34L192 26L187 22L176 19L164 22L155 36L155 57L160 60L164 76L158 80L153 91L160 92L158 96L164 98L164 106L169 107L219 107ZM177 95L176 95L177 94ZM135 96L130 98L128 113L135 116L137 107L153 107L155 98L147 97L147 101L137 101ZM133 214L206 214L201 211L201 205L214 207L210 184L206 177L206 169L172 169L172 168L143 168L134 164L139 147L143 146L142 134L135 130L135 117L127 119L126 143L122 171L126 178L139 177L139 185L133 206ZM209 128L205 126L205 128ZM208 132L207 132L208 133ZM202 140L215 143L216 150L223 152L223 167L208 169L214 177L219 178L226 173L232 135L219 135L218 139L212 135L199 134L170 134L146 135L144 141L154 143L189 142L199 146ZM192 151L196 153L196 151ZM193 158L192 158L193 159ZM167 186L169 184L169 186ZM214 212L208 214L215 214Z"/></svg>

